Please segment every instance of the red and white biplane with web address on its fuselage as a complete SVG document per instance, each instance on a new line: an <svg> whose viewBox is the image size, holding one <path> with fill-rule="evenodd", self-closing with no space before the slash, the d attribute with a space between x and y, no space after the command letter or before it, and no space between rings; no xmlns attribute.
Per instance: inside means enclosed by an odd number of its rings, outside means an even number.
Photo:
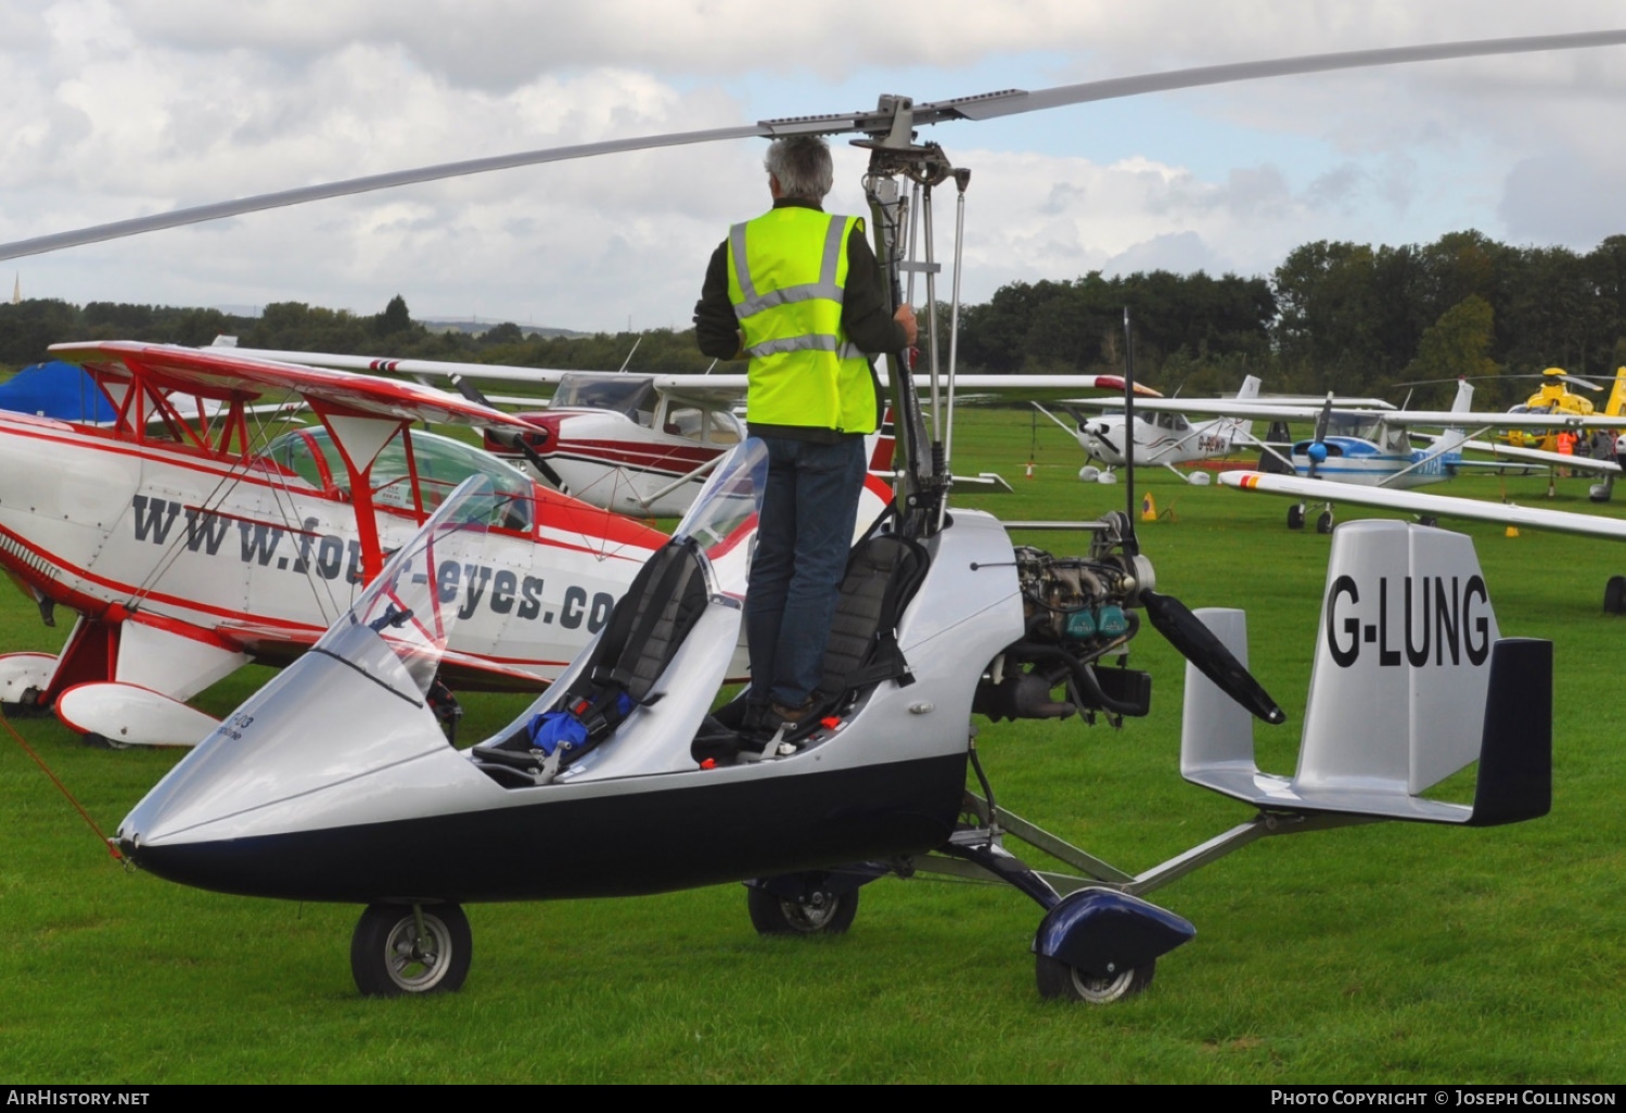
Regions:
<svg viewBox="0 0 1626 1113"><path fill-rule="evenodd" d="M540 688L606 620L665 534L561 495L416 421L530 428L420 386L229 350L59 345L117 410L107 426L0 412L0 566L78 613L59 656L0 656L0 701L50 706L114 744L190 745L185 700L320 638L459 482L498 495L486 558L446 563L467 596L442 679ZM250 404L319 425L270 443Z"/></svg>

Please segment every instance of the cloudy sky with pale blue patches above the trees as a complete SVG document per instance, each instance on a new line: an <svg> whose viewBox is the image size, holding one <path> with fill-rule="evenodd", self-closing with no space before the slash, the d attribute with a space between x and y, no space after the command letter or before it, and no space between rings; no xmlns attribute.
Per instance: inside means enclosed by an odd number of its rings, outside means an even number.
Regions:
<svg viewBox="0 0 1626 1113"><path fill-rule="evenodd" d="M1626 26L1618 0L7 0L0 242L411 166L1193 65ZM1626 233L1626 47L1158 93L925 129L963 296L1091 270L1268 275L1317 239ZM834 142L828 208L863 212ZM615 155L0 264L28 298L689 324L764 142ZM937 203L953 252L953 190ZM10 272L10 273L7 273ZM941 295L946 298L946 282ZM917 295L920 299L920 295ZM387 353L380 353L387 355Z"/></svg>

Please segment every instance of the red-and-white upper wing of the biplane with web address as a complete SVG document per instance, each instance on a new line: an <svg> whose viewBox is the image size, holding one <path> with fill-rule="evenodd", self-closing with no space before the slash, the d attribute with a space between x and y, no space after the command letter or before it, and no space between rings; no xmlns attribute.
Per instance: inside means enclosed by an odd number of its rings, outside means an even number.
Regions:
<svg viewBox="0 0 1626 1113"><path fill-rule="evenodd" d="M52 345L52 355L89 371L104 387L141 382L203 399L259 400L298 394L343 413L525 428L524 421L460 395L418 382L353 374L327 366L280 363L231 348L182 348L167 343L101 340Z"/></svg>

